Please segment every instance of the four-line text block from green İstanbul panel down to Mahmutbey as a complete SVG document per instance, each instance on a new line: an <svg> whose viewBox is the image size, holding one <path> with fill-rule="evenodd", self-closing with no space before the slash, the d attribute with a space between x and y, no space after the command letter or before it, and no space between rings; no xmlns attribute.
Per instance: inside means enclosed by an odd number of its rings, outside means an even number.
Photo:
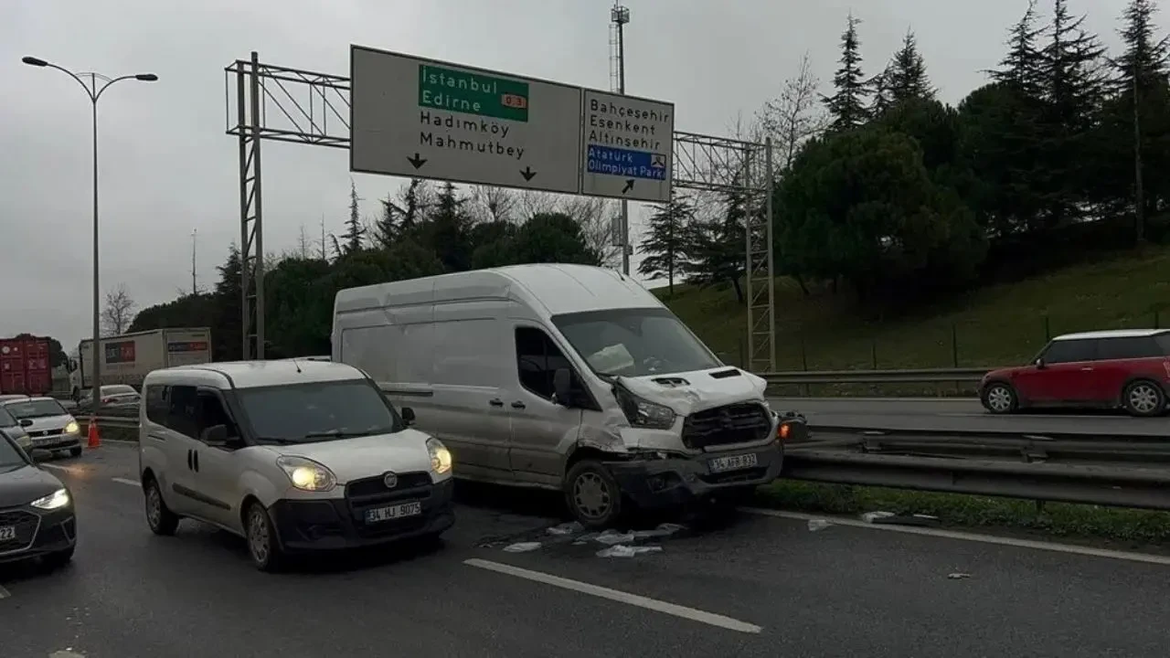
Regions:
<svg viewBox="0 0 1170 658"><path fill-rule="evenodd" d="M507 143L507 122L528 123L526 82L419 64L419 108L421 146L524 157L523 146Z"/></svg>

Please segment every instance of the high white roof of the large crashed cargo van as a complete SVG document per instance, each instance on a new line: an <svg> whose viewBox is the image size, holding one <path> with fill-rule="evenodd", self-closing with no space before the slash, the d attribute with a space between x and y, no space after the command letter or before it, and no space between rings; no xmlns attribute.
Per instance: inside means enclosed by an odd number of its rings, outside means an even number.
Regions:
<svg viewBox="0 0 1170 658"><path fill-rule="evenodd" d="M550 316L663 306L640 283L613 269L532 263L349 288L337 293L333 313L468 299L510 299Z"/></svg>

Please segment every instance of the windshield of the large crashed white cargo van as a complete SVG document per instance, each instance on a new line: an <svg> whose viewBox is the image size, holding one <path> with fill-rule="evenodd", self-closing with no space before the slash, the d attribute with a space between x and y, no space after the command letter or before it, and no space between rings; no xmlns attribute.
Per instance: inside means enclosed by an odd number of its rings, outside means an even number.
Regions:
<svg viewBox="0 0 1170 658"><path fill-rule="evenodd" d="M722 365L665 308L571 313L553 316L552 323L598 375L644 377Z"/></svg>

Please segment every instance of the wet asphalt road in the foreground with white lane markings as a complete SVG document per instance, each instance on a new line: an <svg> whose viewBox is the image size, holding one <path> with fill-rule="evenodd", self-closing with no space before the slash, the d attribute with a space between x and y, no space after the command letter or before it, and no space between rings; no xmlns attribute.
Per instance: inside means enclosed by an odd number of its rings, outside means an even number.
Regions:
<svg viewBox="0 0 1170 658"><path fill-rule="evenodd" d="M5 658L1099 658L1170 643L1170 566L748 513L603 558L596 542L548 541L555 498L464 487L474 505L438 550L268 575L226 533L187 521L153 536L131 447L51 464L77 501L78 551L53 573L0 567ZM532 539L544 546L503 550Z"/></svg>

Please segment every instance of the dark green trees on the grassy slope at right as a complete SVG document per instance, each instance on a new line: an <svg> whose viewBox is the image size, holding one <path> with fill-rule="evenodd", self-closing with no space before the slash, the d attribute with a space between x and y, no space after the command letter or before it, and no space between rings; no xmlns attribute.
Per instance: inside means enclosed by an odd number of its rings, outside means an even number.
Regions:
<svg viewBox="0 0 1170 658"><path fill-rule="evenodd" d="M824 96L805 57L748 130L776 146L778 272L902 309L1170 238L1170 37L1155 0L1130 1L1116 53L1067 0L1049 8L1028 5L987 83L955 107L913 32L869 75L849 15ZM724 201L660 206L642 274L707 283L718 261L737 283L743 218L762 210Z"/></svg>

